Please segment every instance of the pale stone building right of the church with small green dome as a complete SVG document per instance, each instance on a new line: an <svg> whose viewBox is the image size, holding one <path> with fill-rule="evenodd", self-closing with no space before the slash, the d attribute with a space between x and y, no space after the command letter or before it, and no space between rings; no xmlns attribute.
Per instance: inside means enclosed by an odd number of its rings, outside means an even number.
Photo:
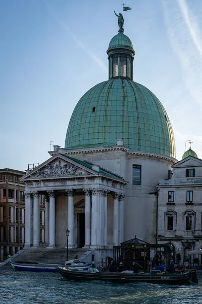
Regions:
<svg viewBox="0 0 202 304"><path fill-rule="evenodd" d="M171 242L184 264L189 250L202 248L202 160L190 148L172 169L158 185L158 242Z"/></svg>

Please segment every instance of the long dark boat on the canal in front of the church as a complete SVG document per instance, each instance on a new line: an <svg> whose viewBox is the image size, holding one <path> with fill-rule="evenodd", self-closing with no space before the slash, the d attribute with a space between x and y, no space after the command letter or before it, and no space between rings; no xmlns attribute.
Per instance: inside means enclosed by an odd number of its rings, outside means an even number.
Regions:
<svg viewBox="0 0 202 304"><path fill-rule="evenodd" d="M176 272L160 272L159 270L151 270L150 273L110 273L110 272L94 272L94 271L75 271L64 267L57 267L62 277L74 281L107 281L114 283L137 283L147 282L156 284L187 284L197 283L196 272L189 270L185 273Z"/></svg>

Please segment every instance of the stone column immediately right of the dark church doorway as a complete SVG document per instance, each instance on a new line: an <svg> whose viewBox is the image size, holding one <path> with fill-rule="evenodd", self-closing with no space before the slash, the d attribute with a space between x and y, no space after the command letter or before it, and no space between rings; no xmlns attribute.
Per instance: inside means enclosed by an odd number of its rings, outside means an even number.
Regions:
<svg viewBox="0 0 202 304"><path fill-rule="evenodd" d="M90 215L91 215L91 206L90 206L90 189L83 189L85 193L85 247L90 246Z"/></svg>

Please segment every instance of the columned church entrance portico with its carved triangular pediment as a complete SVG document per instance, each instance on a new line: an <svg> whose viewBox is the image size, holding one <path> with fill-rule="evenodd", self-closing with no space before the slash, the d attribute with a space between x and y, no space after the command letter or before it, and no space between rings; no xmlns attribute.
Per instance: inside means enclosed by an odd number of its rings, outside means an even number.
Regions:
<svg viewBox="0 0 202 304"><path fill-rule="evenodd" d="M123 242L123 188L127 182L120 176L58 153L27 172L23 180L25 247L40 246L39 195L45 196L48 248L65 246L67 228L70 248L84 243L86 249L102 249Z"/></svg>

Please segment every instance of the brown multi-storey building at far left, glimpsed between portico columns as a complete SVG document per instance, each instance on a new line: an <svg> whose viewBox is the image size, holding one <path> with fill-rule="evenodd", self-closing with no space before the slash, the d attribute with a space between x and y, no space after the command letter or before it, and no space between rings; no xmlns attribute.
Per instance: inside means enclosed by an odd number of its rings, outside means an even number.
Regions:
<svg viewBox="0 0 202 304"><path fill-rule="evenodd" d="M0 169L1 260L21 250L25 244L25 171ZM44 198L40 198L40 240L44 242Z"/></svg>

